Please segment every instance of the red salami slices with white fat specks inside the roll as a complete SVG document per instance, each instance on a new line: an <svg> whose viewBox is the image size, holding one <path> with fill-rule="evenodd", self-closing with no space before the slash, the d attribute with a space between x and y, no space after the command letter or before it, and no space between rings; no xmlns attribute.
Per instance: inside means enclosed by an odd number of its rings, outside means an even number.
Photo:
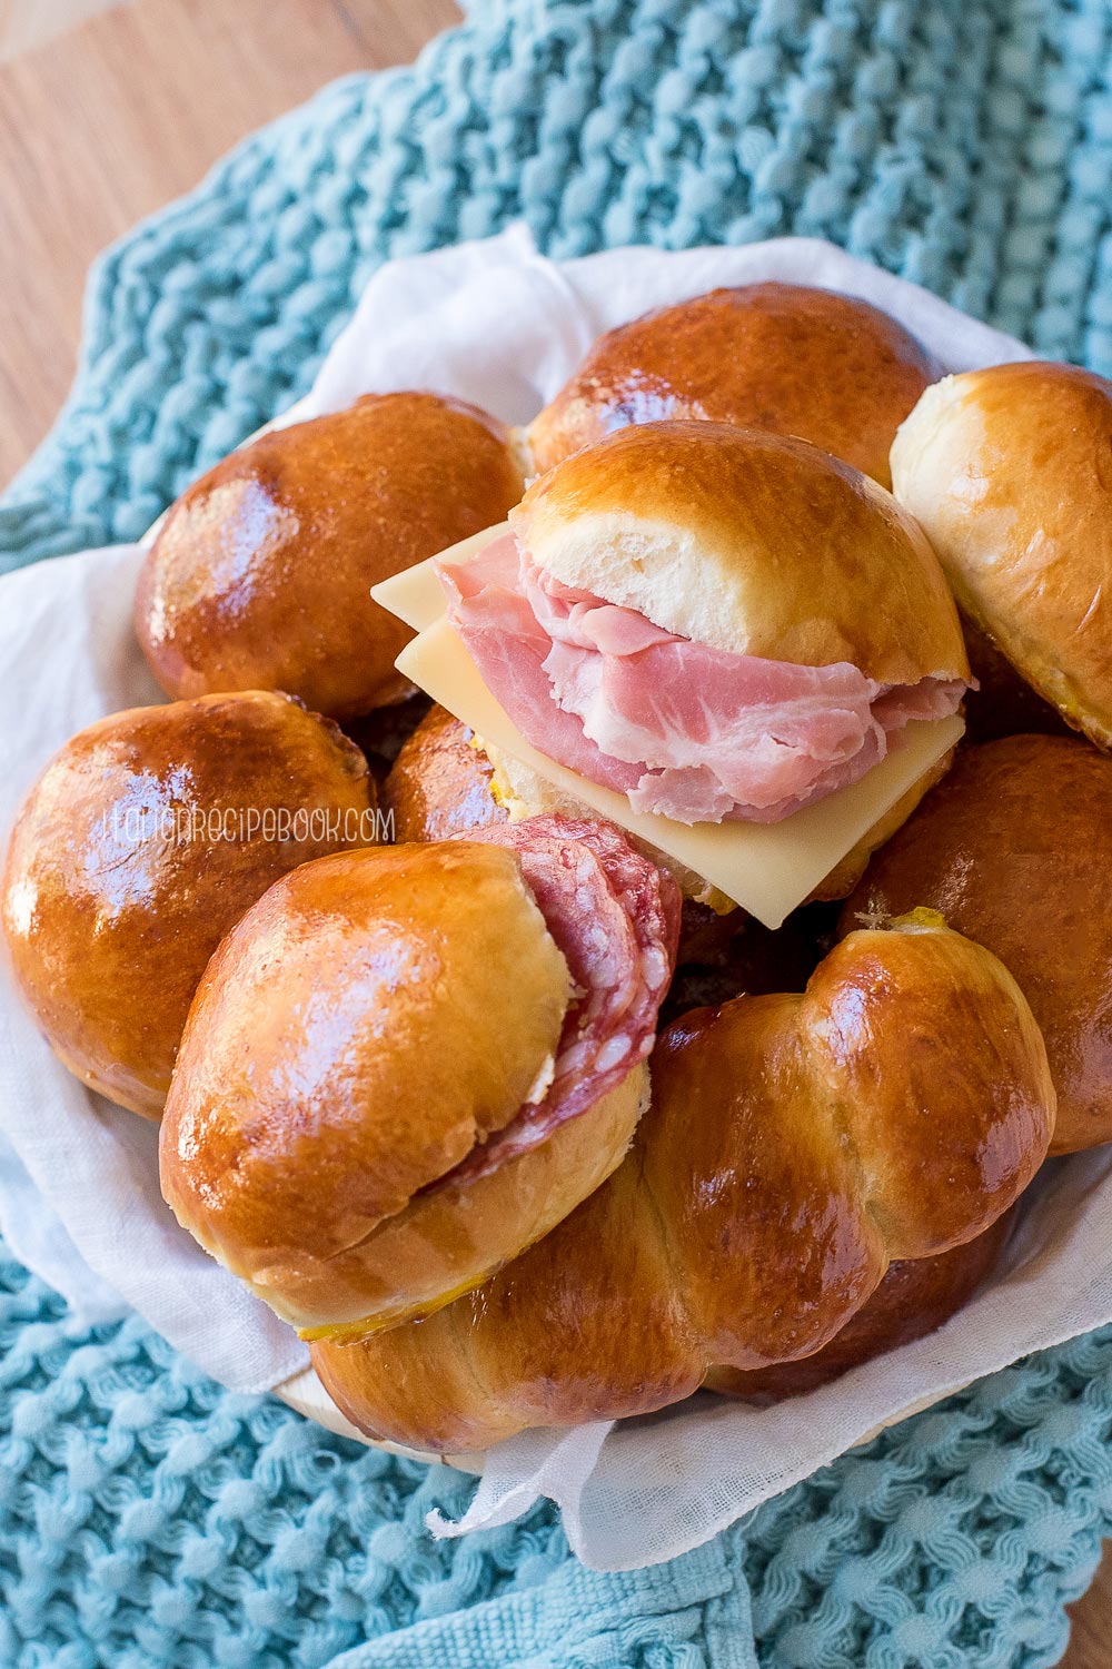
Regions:
<svg viewBox="0 0 1112 1669"><path fill-rule="evenodd" d="M463 838L517 851L575 995L543 1097L522 1107L433 1188L473 1182L545 1142L647 1058L680 935L675 881L612 823L553 813Z"/></svg>

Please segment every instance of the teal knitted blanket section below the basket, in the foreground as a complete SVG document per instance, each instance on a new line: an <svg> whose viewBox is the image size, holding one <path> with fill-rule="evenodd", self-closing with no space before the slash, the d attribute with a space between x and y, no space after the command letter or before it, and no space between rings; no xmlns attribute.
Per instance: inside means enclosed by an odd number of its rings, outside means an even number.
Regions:
<svg viewBox="0 0 1112 1669"><path fill-rule="evenodd" d="M0 1250L0 1664L1027 1669L1112 1529L1110 1429L1105 1330L592 1576L543 1507L433 1542L470 1480L233 1397L138 1320L82 1330Z"/></svg>

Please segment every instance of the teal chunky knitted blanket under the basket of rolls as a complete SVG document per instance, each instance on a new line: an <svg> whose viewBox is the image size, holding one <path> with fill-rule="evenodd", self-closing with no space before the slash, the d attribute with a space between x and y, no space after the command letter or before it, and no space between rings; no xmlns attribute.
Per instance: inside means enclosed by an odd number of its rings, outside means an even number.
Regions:
<svg viewBox="0 0 1112 1669"><path fill-rule="evenodd" d="M98 264L0 566L133 539L302 392L385 259L829 237L1112 372L1112 0L472 0L413 70L250 139ZM2 1669L1052 1664L1112 1532L1112 1330L709 1547L594 1576L548 1509L233 1397L0 1263Z"/></svg>

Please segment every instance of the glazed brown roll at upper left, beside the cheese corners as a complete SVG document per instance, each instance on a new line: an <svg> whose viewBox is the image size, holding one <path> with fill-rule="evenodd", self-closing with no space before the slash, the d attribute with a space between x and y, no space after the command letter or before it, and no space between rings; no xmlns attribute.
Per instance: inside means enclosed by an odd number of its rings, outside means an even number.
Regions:
<svg viewBox="0 0 1112 1669"><path fill-rule="evenodd" d="M252 441L168 511L135 629L170 696L288 689L333 718L397 701L410 633L370 587L500 522L507 431L462 401L370 394Z"/></svg>

